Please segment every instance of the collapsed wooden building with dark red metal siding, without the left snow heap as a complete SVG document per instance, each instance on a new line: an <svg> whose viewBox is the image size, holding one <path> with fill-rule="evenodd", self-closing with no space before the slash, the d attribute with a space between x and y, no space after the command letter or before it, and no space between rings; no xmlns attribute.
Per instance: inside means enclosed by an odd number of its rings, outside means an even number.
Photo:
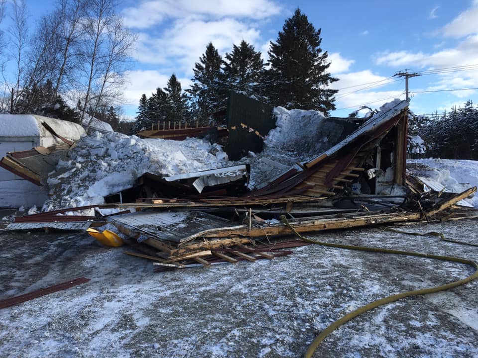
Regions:
<svg viewBox="0 0 478 358"><path fill-rule="evenodd" d="M368 119L322 116L314 130L299 131L302 136L309 136L307 141L296 137L281 143L279 147L285 148L282 156L273 144L264 148L267 136L271 139L281 130L290 130L277 126L281 110L232 94L225 149L236 162L227 161L226 154L217 147L214 155L212 150L200 154L199 147L194 147L197 156L214 157L210 162L217 165L214 168L188 166L194 160L183 158L179 173L169 171L165 175L164 166L153 171L153 162L146 161L141 167L143 172L134 173L133 184L125 182L116 192L105 191L102 202L91 204L84 200L76 207L49 207L39 214L15 218L9 229L88 229L104 244L118 246L124 241L134 249L127 254L152 260L159 269L171 269L272 259L290 253L285 249L304 242L279 243L271 239L303 232L471 215L456 209L455 204L472 195L476 187L461 187L460 193L427 191L423 180L407 177L407 101L387 103ZM304 121L312 115L310 111L302 112ZM166 128L166 123L161 129L158 123L143 135L182 140L184 136L204 135L211 130L199 126L171 128L170 124ZM99 168L115 172L116 177L112 175L110 182L127 176L119 172L120 162L127 156L113 147L104 148L100 137L85 139L78 151L93 146L91 151L95 153L87 155L101 164ZM105 138L110 142L117 140L123 146L136 142L126 137ZM66 154L75 151L70 148L73 142L63 142L68 145ZM147 145L147 141L144 143ZM25 179L35 179L37 185L61 185L77 169L87 168L85 158L70 153L76 162L62 157L62 171L48 178L51 170L39 171L38 158L44 160L56 152L57 149L50 154L45 152L42 157L8 153L2 166L21 173ZM108 164L97 157L105 152L115 158L115 163ZM282 163L277 158L283 159ZM296 162L297 158L305 160ZM228 165L221 166L222 163ZM254 173L266 166L270 166L268 175ZM79 180L94 175L89 170L83 173ZM107 211L111 208L114 213ZM109 229L97 229L106 223Z"/></svg>

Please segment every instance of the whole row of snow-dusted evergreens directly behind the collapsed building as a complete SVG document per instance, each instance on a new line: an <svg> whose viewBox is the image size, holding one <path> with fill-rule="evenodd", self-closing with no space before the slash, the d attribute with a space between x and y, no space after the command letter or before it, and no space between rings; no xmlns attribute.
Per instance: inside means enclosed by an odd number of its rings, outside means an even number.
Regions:
<svg viewBox="0 0 478 358"><path fill-rule="evenodd" d="M165 119L190 123L210 122L214 114L227 107L230 91L236 91L273 106L315 109L324 113L335 109L335 89L329 85L338 79L328 72L327 51L320 45L321 30L316 30L307 16L297 9L284 23L264 63L261 53L241 41L223 57L210 42L194 66L193 85L180 93L173 74L164 90L158 88L150 97L143 94L134 129L150 128ZM268 67L266 66L268 65ZM174 103L180 103L175 106Z"/></svg>

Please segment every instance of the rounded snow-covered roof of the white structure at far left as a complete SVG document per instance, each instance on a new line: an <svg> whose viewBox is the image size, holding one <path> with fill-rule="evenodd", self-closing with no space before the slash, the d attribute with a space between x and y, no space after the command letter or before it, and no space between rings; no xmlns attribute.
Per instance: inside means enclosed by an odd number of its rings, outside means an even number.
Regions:
<svg viewBox="0 0 478 358"><path fill-rule="evenodd" d="M68 139L79 139L85 130L76 123L34 114L0 114L0 137L51 136L43 127L46 122L55 132Z"/></svg>

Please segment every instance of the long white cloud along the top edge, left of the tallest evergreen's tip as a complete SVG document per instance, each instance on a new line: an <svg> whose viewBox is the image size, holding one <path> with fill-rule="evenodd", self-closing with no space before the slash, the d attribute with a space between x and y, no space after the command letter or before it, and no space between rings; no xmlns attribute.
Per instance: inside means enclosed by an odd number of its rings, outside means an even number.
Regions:
<svg viewBox="0 0 478 358"><path fill-rule="evenodd" d="M136 7L123 9L124 23L129 27L149 28L166 18L189 17L236 17L263 19L277 15L282 8L271 0L152 0L143 1Z"/></svg>

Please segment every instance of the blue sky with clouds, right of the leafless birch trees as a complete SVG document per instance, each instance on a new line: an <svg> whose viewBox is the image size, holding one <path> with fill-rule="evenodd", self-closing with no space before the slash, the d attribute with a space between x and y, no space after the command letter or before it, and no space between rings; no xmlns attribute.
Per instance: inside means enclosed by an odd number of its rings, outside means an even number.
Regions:
<svg viewBox="0 0 478 358"><path fill-rule="evenodd" d="M27 2L33 11L47 10ZM404 98L404 80L392 76L405 69L438 72L410 79L410 107L417 114L443 112L468 99L478 103L477 90L448 91L478 88L478 0L128 0L119 2L119 11L139 41L125 114L134 116L141 94L165 87L172 73L188 88L210 41L224 56L245 40L267 59L269 41L297 7L322 29L322 49L340 79L332 115ZM450 68L467 71L440 70ZM423 91L437 92L418 93Z"/></svg>

